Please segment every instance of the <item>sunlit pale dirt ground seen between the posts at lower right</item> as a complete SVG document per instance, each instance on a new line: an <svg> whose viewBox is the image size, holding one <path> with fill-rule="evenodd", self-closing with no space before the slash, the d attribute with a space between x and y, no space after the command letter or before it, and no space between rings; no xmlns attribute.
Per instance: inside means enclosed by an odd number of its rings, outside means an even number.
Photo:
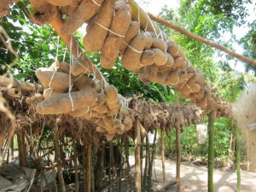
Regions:
<svg viewBox="0 0 256 192"><path fill-rule="evenodd" d="M131 165L134 158L131 158ZM161 160L154 161L155 174L152 179L162 181ZM174 161L166 160L167 180L175 180L176 164ZM236 172L214 170L214 190L216 192L236 191ZM176 192L176 185L168 192ZM181 191L183 192L205 192L207 191L207 166L195 166L191 163L181 165ZM256 172L241 171L241 192L256 191Z"/></svg>

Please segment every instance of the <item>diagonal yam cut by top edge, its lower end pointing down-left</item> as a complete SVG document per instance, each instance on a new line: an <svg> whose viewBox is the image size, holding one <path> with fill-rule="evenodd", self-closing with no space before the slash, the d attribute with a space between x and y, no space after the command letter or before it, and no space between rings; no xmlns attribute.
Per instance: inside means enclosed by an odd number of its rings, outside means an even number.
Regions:
<svg viewBox="0 0 256 192"><path fill-rule="evenodd" d="M70 15L61 29L61 33L72 35L85 21L90 20L96 13L99 12L104 0L83 0L79 4L79 8L73 15Z"/></svg>

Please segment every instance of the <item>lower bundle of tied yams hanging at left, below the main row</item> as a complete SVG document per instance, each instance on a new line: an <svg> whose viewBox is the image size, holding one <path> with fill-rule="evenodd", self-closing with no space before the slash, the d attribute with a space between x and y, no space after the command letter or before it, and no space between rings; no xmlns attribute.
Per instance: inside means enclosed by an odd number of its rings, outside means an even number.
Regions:
<svg viewBox="0 0 256 192"><path fill-rule="evenodd" d="M134 115L131 109L121 106L116 88L107 85L102 89L102 83L90 79L85 72L79 59L71 67L67 62L55 62L49 68L38 68L36 75L44 85L44 101L38 102L37 112L67 113L87 119L97 125L96 131L105 132L108 140L116 133L129 131Z"/></svg>

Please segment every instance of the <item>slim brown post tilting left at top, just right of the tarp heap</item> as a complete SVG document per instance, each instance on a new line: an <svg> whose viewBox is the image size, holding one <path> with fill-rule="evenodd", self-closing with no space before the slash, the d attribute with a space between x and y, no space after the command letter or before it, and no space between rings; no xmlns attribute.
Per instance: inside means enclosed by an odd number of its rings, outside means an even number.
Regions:
<svg viewBox="0 0 256 192"><path fill-rule="evenodd" d="M59 144L59 136L55 135L54 137L54 146L55 146L55 161L57 162L57 174L60 183L60 190L61 192L66 192L65 181L62 174L62 167L61 167L61 150Z"/></svg>

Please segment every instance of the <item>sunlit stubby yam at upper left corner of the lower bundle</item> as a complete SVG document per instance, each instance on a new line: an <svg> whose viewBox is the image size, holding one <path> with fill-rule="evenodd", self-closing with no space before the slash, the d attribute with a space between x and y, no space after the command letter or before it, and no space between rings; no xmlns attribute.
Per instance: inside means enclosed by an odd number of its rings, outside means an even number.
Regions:
<svg viewBox="0 0 256 192"><path fill-rule="evenodd" d="M67 73L49 71L48 68L40 67L36 72L36 76L44 85L44 88L51 87L54 90L67 90L69 87L69 76ZM73 79L71 77L71 84Z"/></svg>

